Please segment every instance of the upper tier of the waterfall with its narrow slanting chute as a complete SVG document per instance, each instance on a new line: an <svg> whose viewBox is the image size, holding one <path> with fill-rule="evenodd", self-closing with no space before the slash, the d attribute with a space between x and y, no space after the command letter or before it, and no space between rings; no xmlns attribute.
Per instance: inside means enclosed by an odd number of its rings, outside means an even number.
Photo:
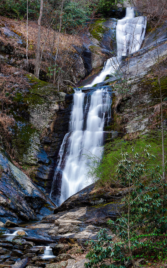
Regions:
<svg viewBox="0 0 167 268"><path fill-rule="evenodd" d="M134 18L134 8L126 8L126 16L117 21L116 41L117 57L109 58L102 69L102 72L84 87L92 87L104 81L109 74L114 74L121 64L122 56L134 53L140 49L144 40L147 20L144 16Z"/></svg>

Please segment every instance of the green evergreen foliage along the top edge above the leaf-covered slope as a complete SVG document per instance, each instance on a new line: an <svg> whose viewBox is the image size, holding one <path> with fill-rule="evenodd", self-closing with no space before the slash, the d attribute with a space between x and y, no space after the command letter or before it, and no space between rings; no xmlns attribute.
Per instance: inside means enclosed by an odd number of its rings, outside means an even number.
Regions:
<svg viewBox="0 0 167 268"><path fill-rule="evenodd" d="M122 1L122 0L121 0ZM91 19L92 14L108 12L112 8L117 7L118 0L65 0L63 3L62 14L62 30L71 32L77 27L83 26ZM44 1L43 13L45 14L43 21L55 17L55 29L59 29L60 23L60 5L62 1ZM37 19L39 17L40 0L28 1L29 19ZM0 4L0 14L14 18L25 19L27 13L26 0L3 0ZM51 20L52 20L51 19Z"/></svg>

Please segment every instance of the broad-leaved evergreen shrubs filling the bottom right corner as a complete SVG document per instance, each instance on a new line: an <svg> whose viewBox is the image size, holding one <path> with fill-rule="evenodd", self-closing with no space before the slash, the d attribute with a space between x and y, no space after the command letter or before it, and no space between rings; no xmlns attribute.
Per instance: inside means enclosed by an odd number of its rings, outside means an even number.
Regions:
<svg viewBox="0 0 167 268"><path fill-rule="evenodd" d="M149 152L151 146L146 145L142 155L135 152L122 152L116 173L115 182L122 189L123 210L107 229L98 233L97 241L91 240L91 250L87 254L90 263L100 268L124 268L126 261L132 261L138 254L149 254L153 258L164 258L167 250L166 204L167 195L163 193L162 168L150 165L155 156ZM112 260L110 265L107 260ZM98 267L99 267L98 266Z"/></svg>

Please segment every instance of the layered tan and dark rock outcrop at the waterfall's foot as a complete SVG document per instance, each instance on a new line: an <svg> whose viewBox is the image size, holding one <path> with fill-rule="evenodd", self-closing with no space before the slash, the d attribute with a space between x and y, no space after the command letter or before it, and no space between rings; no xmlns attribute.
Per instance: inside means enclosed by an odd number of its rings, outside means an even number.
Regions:
<svg viewBox="0 0 167 268"><path fill-rule="evenodd" d="M108 219L117 217L121 209L121 191L103 192L92 184L68 198L54 215L45 216L42 221L30 225L39 235L49 235L51 239L77 239L86 242L96 239L99 226Z"/></svg>

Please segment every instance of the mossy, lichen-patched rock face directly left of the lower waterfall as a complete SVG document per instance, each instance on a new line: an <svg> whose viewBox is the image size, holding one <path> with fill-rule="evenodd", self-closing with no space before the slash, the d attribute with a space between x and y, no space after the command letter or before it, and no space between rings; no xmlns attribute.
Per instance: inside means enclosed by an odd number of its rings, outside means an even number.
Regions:
<svg viewBox="0 0 167 268"><path fill-rule="evenodd" d="M34 75L26 75L25 79L29 87L25 90L18 87L10 106L10 116L14 119L11 145L16 161L26 174L49 192L50 165L64 137L60 128L63 126L68 132L73 90L70 89L68 94L58 91L55 85ZM64 122L63 116L66 118ZM61 137L59 132L62 132Z"/></svg>

